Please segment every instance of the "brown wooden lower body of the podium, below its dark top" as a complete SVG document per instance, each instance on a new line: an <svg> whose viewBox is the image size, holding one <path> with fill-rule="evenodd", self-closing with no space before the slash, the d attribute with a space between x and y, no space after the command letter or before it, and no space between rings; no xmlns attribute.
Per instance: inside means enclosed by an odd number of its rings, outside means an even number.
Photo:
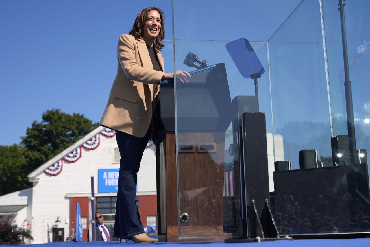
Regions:
<svg viewBox="0 0 370 247"><path fill-rule="evenodd" d="M158 239L186 241L179 239L180 224L181 237L220 240L211 237L223 235L225 133L179 133L178 139L179 183L175 133L156 145Z"/></svg>

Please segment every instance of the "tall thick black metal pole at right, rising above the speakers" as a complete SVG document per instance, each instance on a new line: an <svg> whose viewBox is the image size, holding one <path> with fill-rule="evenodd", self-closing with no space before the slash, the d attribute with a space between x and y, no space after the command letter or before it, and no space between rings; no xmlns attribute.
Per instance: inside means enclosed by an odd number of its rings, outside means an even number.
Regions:
<svg viewBox="0 0 370 247"><path fill-rule="evenodd" d="M353 117L353 103L352 103L352 88L349 79L349 66L348 66L348 52L347 52L347 38L346 38L346 22L344 20L344 4L345 0L339 0L340 12L340 26L342 27L342 45L343 45L343 61L344 61L344 93L346 97L346 111L347 111L347 127L348 127L348 143L351 164L355 163L356 153L356 136L354 133L354 117Z"/></svg>

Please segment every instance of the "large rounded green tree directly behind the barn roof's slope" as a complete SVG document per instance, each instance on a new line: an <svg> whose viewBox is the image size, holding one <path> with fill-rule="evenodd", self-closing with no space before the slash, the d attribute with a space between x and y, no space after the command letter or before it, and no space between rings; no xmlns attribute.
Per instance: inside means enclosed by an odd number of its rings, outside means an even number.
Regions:
<svg viewBox="0 0 370 247"><path fill-rule="evenodd" d="M45 111L42 119L40 123L34 121L27 128L26 136L22 137L21 146L27 162L27 173L99 126L83 114L70 115L60 109Z"/></svg>

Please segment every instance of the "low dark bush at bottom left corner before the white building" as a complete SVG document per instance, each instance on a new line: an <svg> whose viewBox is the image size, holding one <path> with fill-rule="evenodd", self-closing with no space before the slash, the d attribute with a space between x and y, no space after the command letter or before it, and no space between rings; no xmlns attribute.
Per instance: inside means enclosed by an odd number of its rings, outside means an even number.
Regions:
<svg viewBox="0 0 370 247"><path fill-rule="evenodd" d="M31 231L18 227L9 218L0 217L0 244L24 244L24 239L30 238Z"/></svg>

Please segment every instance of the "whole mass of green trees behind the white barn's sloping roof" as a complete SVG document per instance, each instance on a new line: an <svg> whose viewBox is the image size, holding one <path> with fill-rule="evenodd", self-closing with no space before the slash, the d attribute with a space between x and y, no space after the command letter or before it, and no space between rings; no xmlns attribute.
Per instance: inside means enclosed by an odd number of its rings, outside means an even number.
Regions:
<svg viewBox="0 0 370 247"><path fill-rule="evenodd" d="M98 127L83 114L47 110L20 145L0 146L0 196L31 186L27 174Z"/></svg>

